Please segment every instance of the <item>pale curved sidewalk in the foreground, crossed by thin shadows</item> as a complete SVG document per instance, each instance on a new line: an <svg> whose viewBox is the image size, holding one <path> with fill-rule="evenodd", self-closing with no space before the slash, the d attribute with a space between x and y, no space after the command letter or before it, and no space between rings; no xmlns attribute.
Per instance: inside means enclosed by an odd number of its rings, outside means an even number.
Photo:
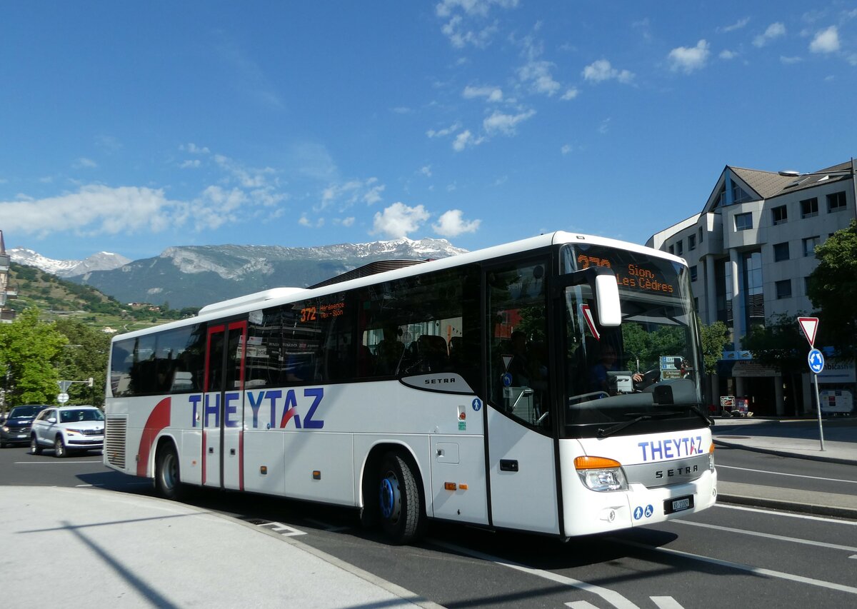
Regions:
<svg viewBox="0 0 857 609"><path fill-rule="evenodd" d="M0 487L0 522L3 606L13 609L437 607L291 537L172 501Z"/></svg>

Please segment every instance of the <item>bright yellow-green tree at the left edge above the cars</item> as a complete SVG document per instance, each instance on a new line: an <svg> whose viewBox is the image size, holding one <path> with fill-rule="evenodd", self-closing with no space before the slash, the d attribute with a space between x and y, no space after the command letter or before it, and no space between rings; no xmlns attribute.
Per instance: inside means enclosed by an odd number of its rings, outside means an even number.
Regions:
<svg viewBox="0 0 857 609"><path fill-rule="evenodd" d="M5 406L53 403L59 387L56 364L64 337L39 309L25 309L11 324L0 324L0 373L5 373Z"/></svg>

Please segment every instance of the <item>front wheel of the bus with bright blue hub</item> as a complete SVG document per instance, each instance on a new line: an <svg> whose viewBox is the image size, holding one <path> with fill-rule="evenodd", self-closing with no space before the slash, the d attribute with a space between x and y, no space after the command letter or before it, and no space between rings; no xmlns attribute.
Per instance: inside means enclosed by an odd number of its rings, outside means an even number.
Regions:
<svg viewBox="0 0 857 609"><path fill-rule="evenodd" d="M422 493L411 465L395 453L387 453L381 463L378 499L387 537L397 544L415 540L424 520Z"/></svg>

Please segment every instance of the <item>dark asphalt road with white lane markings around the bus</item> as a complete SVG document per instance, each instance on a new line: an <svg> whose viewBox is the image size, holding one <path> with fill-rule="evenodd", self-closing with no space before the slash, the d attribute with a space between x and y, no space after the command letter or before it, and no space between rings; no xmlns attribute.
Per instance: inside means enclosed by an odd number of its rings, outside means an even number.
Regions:
<svg viewBox="0 0 857 609"><path fill-rule="evenodd" d="M852 466L746 451L716 457L726 480L857 492ZM152 493L148 481L105 469L98 455L35 457L23 447L0 451L0 484ZM857 605L855 521L717 505L686 520L567 543L436 523L417 546L388 546L359 527L353 510L209 491L191 493L189 502L298 536L447 607Z"/></svg>

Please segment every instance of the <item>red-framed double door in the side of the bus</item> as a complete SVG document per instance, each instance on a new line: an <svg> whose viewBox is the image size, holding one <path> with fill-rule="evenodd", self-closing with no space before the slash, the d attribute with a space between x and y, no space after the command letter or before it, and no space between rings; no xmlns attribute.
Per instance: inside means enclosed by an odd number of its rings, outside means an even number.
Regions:
<svg viewBox="0 0 857 609"><path fill-rule="evenodd" d="M202 416L202 485L243 489L247 322L208 328Z"/></svg>

